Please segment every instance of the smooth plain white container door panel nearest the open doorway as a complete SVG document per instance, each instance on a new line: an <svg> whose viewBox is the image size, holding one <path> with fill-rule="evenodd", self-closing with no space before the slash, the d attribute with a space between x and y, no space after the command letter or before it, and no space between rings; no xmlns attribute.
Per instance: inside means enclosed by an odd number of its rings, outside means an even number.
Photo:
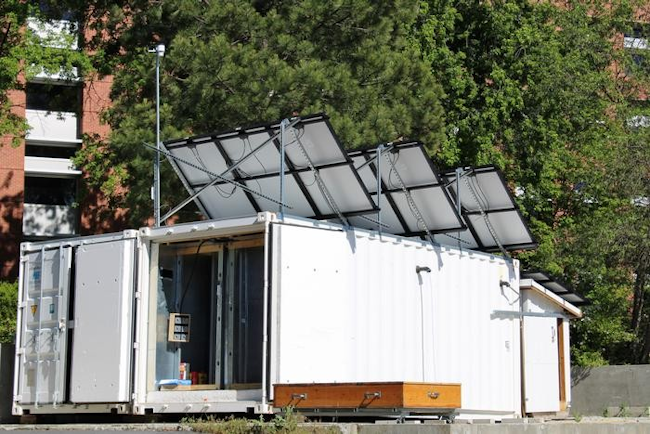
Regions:
<svg viewBox="0 0 650 434"><path fill-rule="evenodd" d="M129 401L134 268L134 239L77 249L70 367L73 403Z"/></svg>

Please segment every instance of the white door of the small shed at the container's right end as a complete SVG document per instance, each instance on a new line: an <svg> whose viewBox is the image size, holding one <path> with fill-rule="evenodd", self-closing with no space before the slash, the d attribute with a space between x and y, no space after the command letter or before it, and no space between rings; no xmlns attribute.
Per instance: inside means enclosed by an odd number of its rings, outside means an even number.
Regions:
<svg viewBox="0 0 650 434"><path fill-rule="evenodd" d="M557 319L524 317L526 413L560 411Z"/></svg>

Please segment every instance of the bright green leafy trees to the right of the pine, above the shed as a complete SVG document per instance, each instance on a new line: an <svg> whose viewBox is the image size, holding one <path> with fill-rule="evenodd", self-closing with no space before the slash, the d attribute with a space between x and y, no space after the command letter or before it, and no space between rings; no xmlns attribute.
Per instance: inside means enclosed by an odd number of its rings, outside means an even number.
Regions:
<svg viewBox="0 0 650 434"><path fill-rule="evenodd" d="M648 50L633 59L621 41L642 7L424 0L412 33L446 94L434 158L501 166L539 242L523 266L592 300L574 327L579 364L644 362L650 350L649 207L633 205L650 195L650 149L648 128L629 122L650 114L631 104L648 85Z"/></svg>

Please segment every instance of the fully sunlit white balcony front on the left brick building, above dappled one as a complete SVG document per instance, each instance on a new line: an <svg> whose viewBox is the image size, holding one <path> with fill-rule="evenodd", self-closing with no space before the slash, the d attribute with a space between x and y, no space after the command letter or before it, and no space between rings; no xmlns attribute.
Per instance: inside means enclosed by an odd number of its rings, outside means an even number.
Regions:
<svg viewBox="0 0 650 434"><path fill-rule="evenodd" d="M30 127L27 141L80 143L77 115L71 112L25 110Z"/></svg>

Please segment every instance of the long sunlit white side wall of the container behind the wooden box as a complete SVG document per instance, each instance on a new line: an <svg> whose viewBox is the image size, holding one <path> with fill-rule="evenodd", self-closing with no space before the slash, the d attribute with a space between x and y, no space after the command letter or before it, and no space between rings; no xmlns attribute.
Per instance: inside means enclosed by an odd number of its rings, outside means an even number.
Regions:
<svg viewBox="0 0 650 434"><path fill-rule="evenodd" d="M274 245L273 383L461 383L466 412L519 413L519 319L493 315L519 310L518 263L285 225Z"/></svg>

